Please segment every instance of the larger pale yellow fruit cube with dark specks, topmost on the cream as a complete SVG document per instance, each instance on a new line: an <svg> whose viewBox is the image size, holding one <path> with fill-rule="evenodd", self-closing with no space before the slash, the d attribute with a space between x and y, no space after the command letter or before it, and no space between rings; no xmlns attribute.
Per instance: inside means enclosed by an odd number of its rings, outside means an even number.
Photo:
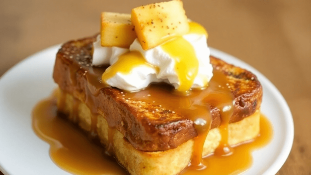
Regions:
<svg viewBox="0 0 311 175"><path fill-rule="evenodd" d="M132 24L144 50L153 48L173 36L189 31L183 2L153 3L132 9Z"/></svg>

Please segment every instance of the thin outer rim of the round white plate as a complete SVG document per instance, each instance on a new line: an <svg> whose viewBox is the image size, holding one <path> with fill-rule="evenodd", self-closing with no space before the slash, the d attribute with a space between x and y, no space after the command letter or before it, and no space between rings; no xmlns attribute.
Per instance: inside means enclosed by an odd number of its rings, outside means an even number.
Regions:
<svg viewBox="0 0 311 175"><path fill-rule="evenodd" d="M0 81L2 80L2 78L6 77L10 72L14 71L19 65L24 64L27 60L34 59L36 57L36 55L44 54L45 52L47 52L49 50L56 50L57 48L60 48L61 45L62 44L52 45L50 47L47 47L43 50L40 50L40 51L34 53L34 54L31 54L30 56L26 57L25 59L22 59L20 62L18 62L17 64L12 66L10 69L8 69L5 73L3 73L2 76L0 77ZM287 131L287 135L285 137L284 145L282 146L280 154L277 155L277 158L275 159L275 161L263 173L264 175L276 174L281 169L281 167L283 166L285 161L287 160L287 158L290 154L290 151L292 149L293 141L294 141L293 116L291 114L290 108L289 108L285 98L282 96L281 92L276 88L276 86L268 78L266 78L261 72L259 72L257 69L255 69L253 66L247 64L246 62L244 62L241 59L234 57L233 55L227 54L223 51L220 51L220 50L212 48L212 47L209 47L209 48L211 49L211 55L213 55L217 58L232 59L236 62L239 62L239 64L240 63L243 64L242 67L246 66L247 67L246 69L248 69L248 67L251 68L252 69L251 72L254 73L260 79L261 83L264 82L264 84L266 84L269 87L269 90L271 90L273 92L273 94L276 97L277 102L281 106L281 109L284 113L283 118L285 119L285 127L286 127L286 131ZM239 65L239 66L241 66L241 65ZM5 170L5 168L2 167L1 164L0 164L0 170L4 175L13 175L13 174L7 173L7 171Z"/></svg>

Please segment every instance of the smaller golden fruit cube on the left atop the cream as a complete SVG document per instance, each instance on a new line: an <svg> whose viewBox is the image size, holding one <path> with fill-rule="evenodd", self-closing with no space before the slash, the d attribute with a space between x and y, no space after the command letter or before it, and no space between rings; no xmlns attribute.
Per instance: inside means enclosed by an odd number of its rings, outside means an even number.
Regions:
<svg viewBox="0 0 311 175"><path fill-rule="evenodd" d="M136 33L130 14L101 13L101 45L106 47L129 48L135 40Z"/></svg>

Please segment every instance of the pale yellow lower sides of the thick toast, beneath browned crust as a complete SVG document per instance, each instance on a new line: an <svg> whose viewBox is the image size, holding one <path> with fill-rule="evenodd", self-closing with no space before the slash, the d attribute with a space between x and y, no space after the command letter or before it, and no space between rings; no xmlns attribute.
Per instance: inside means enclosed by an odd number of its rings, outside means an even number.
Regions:
<svg viewBox="0 0 311 175"><path fill-rule="evenodd" d="M60 104L61 89L58 89L56 96L58 98L58 106ZM73 123L77 123L79 127L87 132L91 132L91 111L84 102L79 103L78 112L74 112L74 97L66 94L65 106L60 112L66 114L67 119ZM77 116L75 117L74 114ZM106 116L97 116L96 131L100 142L104 145L112 144L114 154L118 162L131 175L176 175L186 168L191 160L194 139L179 145L175 149L166 151L145 152L135 149L116 129L111 129L105 119ZM236 123L230 123L228 126L229 137L228 143L236 145L251 140L259 134L260 111L244 118ZM110 136L110 138L109 138ZM109 140L110 139L110 140ZM221 140L221 134L218 128L211 129L204 143L202 156L206 156L215 151Z"/></svg>

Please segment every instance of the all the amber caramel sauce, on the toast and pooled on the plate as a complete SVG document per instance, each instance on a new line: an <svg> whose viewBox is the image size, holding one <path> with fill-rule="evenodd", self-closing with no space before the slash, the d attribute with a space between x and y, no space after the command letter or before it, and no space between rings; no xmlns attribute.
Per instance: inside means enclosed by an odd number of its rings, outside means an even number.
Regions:
<svg viewBox="0 0 311 175"><path fill-rule="evenodd" d="M218 80L223 79L221 76L221 73L214 72L214 78ZM87 75L87 78L90 82L96 82L97 80L97 78L90 74ZM207 89L193 90L191 92L192 94L180 98L174 98L174 95L168 96L164 91L154 86L140 92L125 93L127 98L139 98L146 102L155 103L156 105L161 104L167 109L174 109L176 113L184 114L193 121L196 121L198 118L206 121L203 127L196 125L198 136L194 138L193 158L189 167L180 174L223 175L241 173L251 166L252 151L266 145L271 140L272 126L267 118L261 115L260 134L258 137L248 141L248 143L231 148L227 143L227 127L233 108L229 108L221 113L222 123L219 128L222 140L220 141L220 146L216 149L214 155L201 158L204 140L211 127L210 111L206 107L203 108L201 102L212 104L219 109L232 105L233 98L230 96L225 83L225 81L217 81L216 83L211 81ZM94 84L91 83L91 85ZM96 94L99 88L90 86L89 89L89 93ZM89 103L88 106L91 105L92 101L90 94L89 96L86 102L87 105ZM189 97L191 97L190 100ZM60 102L64 102L64 96L61 96ZM107 156L107 150L104 147L91 141L90 137L78 129L77 126L70 124L62 119L62 117L58 117L56 103L56 97L52 96L49 99L39 102L33 111L33 128L40 138L50 144L50 157L54 163L60 168L78 175L128 174L114 158ZM77 108L78 104L79 101L74 102L74 106L76 106L74 108ZM176 104L178 104L179 108L176 108ZM63 105L60 104L59 106L61 107ZM94 110L91 109L91 111ZM197 111L195 115L193 115L193 110ZM96 126L96 123L97 121L92 121L93 126Z"/></svg>

